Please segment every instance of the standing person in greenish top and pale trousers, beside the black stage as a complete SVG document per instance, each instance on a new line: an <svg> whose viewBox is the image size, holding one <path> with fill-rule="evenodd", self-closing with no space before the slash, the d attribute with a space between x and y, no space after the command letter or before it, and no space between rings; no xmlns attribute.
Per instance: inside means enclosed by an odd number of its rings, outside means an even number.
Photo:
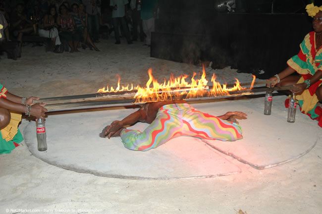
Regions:
<svg viewBox="0 0 322 214"><path fill-rule="evenodd" d="M158 0L141 0L141 19L143 31L147 36L145 45L151 46L151 32L155 30L155 16L158 8Z"/></svg>

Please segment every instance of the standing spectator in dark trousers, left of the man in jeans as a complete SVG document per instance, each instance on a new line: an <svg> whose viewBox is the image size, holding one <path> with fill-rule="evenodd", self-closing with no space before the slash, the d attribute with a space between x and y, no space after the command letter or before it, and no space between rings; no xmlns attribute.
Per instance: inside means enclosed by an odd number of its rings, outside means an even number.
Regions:
<svg viewBox="0 0 322 214"><path fill-rule="evenodd" d="M101 0L83 0L87 13L87 28L88 33L93 38L94 42L100 42L100 6Z"/></svg>

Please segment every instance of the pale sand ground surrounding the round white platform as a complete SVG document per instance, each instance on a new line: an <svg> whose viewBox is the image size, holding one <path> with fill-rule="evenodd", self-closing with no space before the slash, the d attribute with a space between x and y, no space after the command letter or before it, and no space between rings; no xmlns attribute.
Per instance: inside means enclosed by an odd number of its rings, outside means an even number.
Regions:
<svg viewBox="0 0 322 214"><path fill-rule="evenodd" d="M54 97L94 93L107 83L115 85L115 74L121 75L123 83L144 84L150 67L159 81L171 72L176 76L201 71L197 66L151 58L142 43L127 46L123 41L115 46L110 39L98 47L102 52L74 54L24 47L23 56L17 61L0 61L1 83L20 96ZM208 78L212 72L207 71ZM251 79L249 74L238 74L229 68L215 73L229 83L234 76L241 82ZM27 124L23 120L20 130ZM317 123L312 121L311 125ZM285 133L285 137L291 135ZM319 135L322 139L322 132ZM232 158L229 161L239 166L241 173L205 179L127 180L55 167L32 156L22 142L11 154L0 156L0 213L322 212L321 141L304 157L265 170ZM28 211L33 209L34 212Z"/></svg>

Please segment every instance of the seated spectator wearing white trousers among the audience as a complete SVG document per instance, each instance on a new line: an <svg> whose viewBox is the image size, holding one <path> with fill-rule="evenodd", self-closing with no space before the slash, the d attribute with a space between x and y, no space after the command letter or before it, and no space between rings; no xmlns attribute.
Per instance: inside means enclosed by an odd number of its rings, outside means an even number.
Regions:
<svg viewBox="0 0 322 214"><path fill-rule="evenodd" d="M54 5L49 7L48 13L44 17L43 23L40 25L40 29L38 31L39 36L51 38L54 44L54 53L60 53L59 52L59 45L60 39L56 24L57 20L57 13L56 13L56 7Z"/></svg>

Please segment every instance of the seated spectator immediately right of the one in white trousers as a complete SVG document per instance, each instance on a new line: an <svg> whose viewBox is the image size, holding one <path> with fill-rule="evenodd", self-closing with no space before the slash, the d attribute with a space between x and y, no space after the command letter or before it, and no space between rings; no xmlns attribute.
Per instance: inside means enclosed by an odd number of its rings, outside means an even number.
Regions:
<svg viewBox="0 0 322 214"><path fill-rule="evenodd" d="M67 40L71 53L79 52L77 46L81 38L81 32L77 30L73 16L67 13L67 7L64 4L60 5L59 13L60 15L56 21L59 26L59 37Z"/></svg>

